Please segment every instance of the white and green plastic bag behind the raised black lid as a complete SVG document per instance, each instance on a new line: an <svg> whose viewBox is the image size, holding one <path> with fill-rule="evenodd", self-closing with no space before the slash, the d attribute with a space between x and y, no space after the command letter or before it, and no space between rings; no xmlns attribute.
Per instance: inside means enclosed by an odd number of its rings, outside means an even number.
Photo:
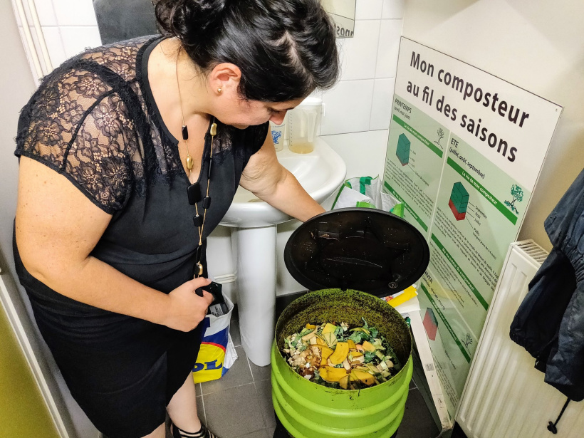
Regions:
<svg viewBox="0 0 584 438"><path fill-rule="evenodd" d="M333 204L333 210L346 207L365 207L380 209L404 217L403 204L400 204L391 194L383 193L381 184L381 179L378 176L347 179L345 184L340 187Z"/></svg>

